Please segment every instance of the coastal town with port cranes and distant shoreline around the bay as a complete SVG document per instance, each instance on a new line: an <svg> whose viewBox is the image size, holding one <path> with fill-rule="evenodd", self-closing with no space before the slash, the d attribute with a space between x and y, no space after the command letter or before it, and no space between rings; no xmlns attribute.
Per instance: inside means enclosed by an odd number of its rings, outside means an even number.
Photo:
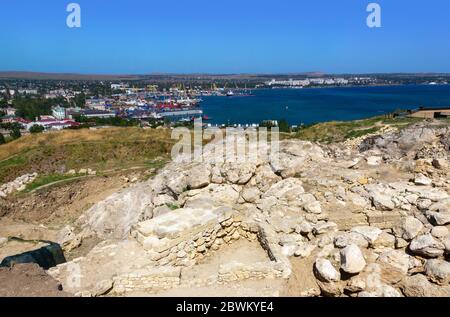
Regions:
<svg viewBox="0 0 450 317"><path fill-rule="evenodd" d="M17 76L17 74L16 74ZM156 76L133 80L23 80L0 81L0 130L15 138L33 132L93 126L157 127L190 124L209 115L202 108L205 97L251 97L257 89L359 87L415 82L446 85L446 76L332 76L310 74L270 77ZM446 113L446 112L444 112ZM417 115L416 115L417 116ZM274 122L280 118L266 118ZM226 122L220 124L227 126ZM261 122L244 126L258 126ZM235 125L240 126L240 125Z"/></svg>

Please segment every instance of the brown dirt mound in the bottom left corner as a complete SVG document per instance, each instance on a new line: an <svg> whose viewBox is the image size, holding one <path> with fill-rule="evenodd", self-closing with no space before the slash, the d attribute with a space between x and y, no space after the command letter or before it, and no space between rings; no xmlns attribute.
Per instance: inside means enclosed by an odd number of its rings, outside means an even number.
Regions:
<svg viewBox="0 0 450 317"><path fill-rule="evenodd" d="M0 268L0 297L69 297L37 264Z"/></svg>

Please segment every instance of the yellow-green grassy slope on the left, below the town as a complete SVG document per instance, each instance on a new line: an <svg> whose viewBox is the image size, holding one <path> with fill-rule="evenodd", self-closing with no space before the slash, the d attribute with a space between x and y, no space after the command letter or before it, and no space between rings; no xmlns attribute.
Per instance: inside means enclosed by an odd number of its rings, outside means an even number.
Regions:
<svg viewBox="0 0 450 317"><path fill-rule="evenodd" d="M28 135L0 146L0 183L35 171L53 179L53 174L70 169L101 172L151 165L167 157L174 143L169 130L139 128Z"/></svg>

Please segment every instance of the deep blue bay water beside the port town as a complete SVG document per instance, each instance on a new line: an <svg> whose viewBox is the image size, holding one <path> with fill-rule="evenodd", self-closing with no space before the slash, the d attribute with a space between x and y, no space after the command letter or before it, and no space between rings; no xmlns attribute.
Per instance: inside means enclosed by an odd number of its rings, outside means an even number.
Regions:
<svg viewBox="0 0 450 317"><path fill-rule="evenodd" d="M253 93L252 97L203 97L202 108L213 124L280 119L309 124L362 119L399 108L450 106L450 85L259 89Z"/></svg>

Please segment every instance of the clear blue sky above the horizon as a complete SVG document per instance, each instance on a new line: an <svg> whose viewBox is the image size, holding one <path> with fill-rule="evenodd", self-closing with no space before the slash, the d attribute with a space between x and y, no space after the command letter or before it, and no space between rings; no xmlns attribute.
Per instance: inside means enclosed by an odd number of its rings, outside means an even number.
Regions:
<svg viewBox="0 0 450 317"><path fill-rule="evenodd" d="M0 70L450 72L449 15L448 0L3 0Z"/></svg>

